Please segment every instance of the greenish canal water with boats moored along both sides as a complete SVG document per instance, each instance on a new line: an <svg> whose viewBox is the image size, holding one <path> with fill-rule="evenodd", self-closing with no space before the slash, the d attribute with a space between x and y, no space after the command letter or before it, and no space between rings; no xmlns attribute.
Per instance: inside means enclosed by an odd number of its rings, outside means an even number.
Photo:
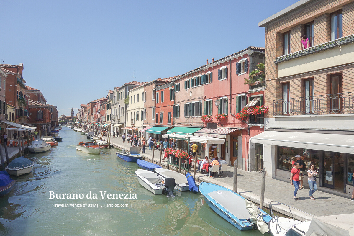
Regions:
<svg viewBox="0 0 354 236"><path fill-rule="evenodd" d="M25 155L35 166L32 173L14 177L15 188L0 198L0 235L261 235L236 229L200 194L152 194L139 184L137 164L116 158L116 149L85 154L76 151L76 144L86 136L67 127L59 136L63 141L51 151ZM50 199L50 191L84 198ZM87 199L90 191L98 199ZM104 198L100 191L107 191ZM136 194L137 199L108 199L109 193Z"/></svg>

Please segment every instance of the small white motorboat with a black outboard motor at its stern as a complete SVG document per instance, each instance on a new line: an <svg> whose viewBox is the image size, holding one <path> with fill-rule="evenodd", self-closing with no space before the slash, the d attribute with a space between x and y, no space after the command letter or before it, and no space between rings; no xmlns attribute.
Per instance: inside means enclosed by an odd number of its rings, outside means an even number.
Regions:
<svg viewBox="0 0 354 236"><path fill-rule="evenodd" d="M167 193L168 196L173 196L173 191L175 191L173 178L168 178L164 182L160 175L146 169L137 169L135 174L139 183L153 194Z"/></svg>

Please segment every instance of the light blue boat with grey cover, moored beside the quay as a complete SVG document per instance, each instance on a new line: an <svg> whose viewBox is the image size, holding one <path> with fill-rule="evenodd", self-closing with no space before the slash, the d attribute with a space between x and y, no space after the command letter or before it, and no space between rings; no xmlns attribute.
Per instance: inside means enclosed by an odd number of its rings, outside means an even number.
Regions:
<svg viewBox="0 0 354 236"><path fill-rule="evenodd" d="M257 223L262 234L268 231L272 217L236 192L205 182L199 185L199 191L213 211L239 230L250 230Z"/></svg>

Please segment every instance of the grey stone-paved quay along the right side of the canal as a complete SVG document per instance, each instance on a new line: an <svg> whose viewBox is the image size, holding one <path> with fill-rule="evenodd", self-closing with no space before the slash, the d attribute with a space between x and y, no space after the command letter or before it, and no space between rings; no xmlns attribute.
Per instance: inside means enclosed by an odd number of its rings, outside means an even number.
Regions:
<svg viewBox="0 0 354 236"><path fill-rule="evenodd" d="M122 138L111 138L111 144L115 148L125 148L130 150L130 145L122 145ZM142 154L145 159L152 160L152 150L146 148L146 153ZM162 154L163 155L163 154ZM154 163L157 161L159 164L160 151L155 150ZM167 167L167 162L162 162L161 165L164 168ZM196 173L196 182L208 182L213 184L218 184L225 186L228 189L233 189L233 167L228 166L228 177L224 174L224 177L207 177L204 174ZM184 171L183 171L184 172ZM181 171L182 173L182 171ZM193 170L191 170L193 175ZM262 174L259 172L249 172L242 169L238 169L237 173L237 193L242 197L259 204L261 195L261 180ZM314 216L323 215L336 215L336 214L347 214L354 213L354 202L350 201L349 198L336 196L327 192L316 191L313 196L316 200L311 200L309 196L309 188L303 190L298 190L297 197L299 200L295 201L293 199L294 187L290 185L289 182L284 182L281 180L266 177L265 180L265 195L264 195L264 206L269 208L269 203L271 201L281 202L286 205L295 207L301 211L312 214ZM284 205L273 205L273 211L277 211L281 214L291 216L289 208ZM298 220L311 219L312 217L301 211L296 211L291 209L294 217Z"/></svg>

